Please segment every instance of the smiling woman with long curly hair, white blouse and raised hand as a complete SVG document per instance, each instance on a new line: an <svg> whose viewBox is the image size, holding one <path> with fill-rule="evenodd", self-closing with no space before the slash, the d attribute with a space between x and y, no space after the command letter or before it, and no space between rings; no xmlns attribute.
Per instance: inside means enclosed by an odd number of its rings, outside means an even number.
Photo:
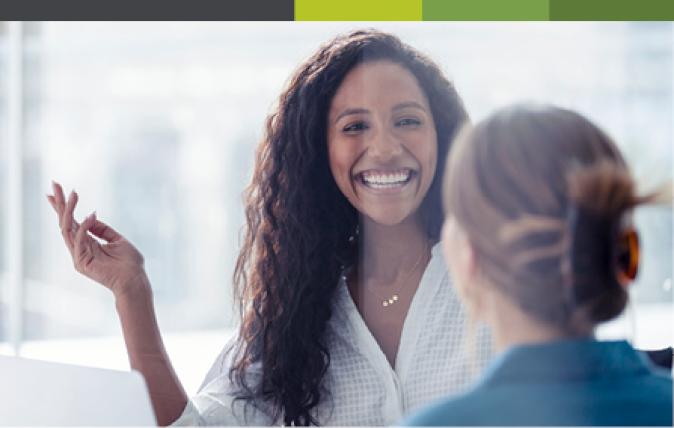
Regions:
<svg viewBox="0 0 674 428"><path fill-rule="evenodd" d="M78 271L109 288L160 423L383 425L467 385L463 312L438 255L439 183L467 119L437 66L396 37L323 45L281 94L246 194L238 337L187 400L143 258L54 186ZM100 238L99 243L94 237Z"/></svg>

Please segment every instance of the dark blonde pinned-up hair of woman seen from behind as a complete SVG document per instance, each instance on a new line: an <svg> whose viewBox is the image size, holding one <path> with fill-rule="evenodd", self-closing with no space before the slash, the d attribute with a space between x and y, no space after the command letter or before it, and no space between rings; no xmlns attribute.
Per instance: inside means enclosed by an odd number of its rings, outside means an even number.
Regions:
<svg viewBox="0 0 674 428"><path fill-rule="evenodd" d="M445 210L481 273L522 310L571 334L620 314L616 251L636 196L613 141L578 113L502 109L454 143Z"/></svg>

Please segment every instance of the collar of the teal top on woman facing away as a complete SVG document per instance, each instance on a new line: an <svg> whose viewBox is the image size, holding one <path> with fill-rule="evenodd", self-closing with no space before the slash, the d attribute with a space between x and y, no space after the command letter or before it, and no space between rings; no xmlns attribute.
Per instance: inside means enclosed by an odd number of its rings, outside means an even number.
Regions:
<svg viewBox="0 0 674 428"><path fill-rule="evenodd" d="M645 357L624 340L574 339L514 346L489 366L481 384L586 381L648 371Z"/></svg>

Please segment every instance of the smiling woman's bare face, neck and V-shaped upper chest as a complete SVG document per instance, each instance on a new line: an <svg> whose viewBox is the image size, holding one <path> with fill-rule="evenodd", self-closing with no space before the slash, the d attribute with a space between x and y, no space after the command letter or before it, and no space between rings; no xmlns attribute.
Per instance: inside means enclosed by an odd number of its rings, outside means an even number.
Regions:
<svg viewBox="0 0 674 428"><path fill-rule="evenodd" d="M363 231L364 251L353 266L349 290L395 366L404 319L423 272L421 262L428 263L430 251L418 210L436 172L433 112L407 68L378 60L346 75L332 100L328 123L330 170L360 213ZM400 269L393 268L391 257L406 246L419 257L405 257ZM393 305L386 316L380 314L382 306Z"/></svg>

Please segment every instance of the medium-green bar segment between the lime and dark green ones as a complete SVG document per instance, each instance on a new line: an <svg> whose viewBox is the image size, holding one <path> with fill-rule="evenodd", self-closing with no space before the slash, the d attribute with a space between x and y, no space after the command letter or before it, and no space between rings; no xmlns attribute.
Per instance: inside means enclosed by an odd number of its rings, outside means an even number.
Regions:
<svg viewBox="0 0 674 428"><path fill-rule="evenodd" d="M550 0L423 0L423 18L424 21L547 21Z"/></svg>

